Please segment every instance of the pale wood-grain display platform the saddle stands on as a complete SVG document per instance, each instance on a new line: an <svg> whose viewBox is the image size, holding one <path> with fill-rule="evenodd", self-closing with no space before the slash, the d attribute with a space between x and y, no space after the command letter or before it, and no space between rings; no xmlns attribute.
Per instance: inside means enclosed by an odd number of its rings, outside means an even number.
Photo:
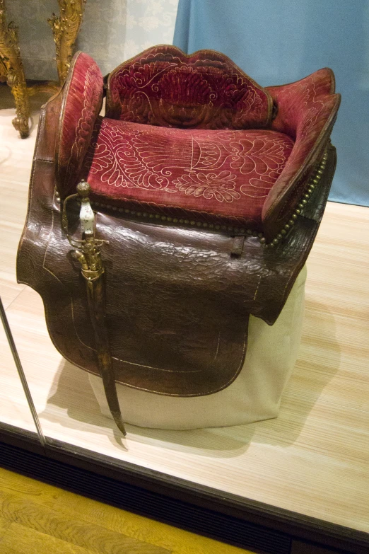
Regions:
<svg viewBox="0 0 369 554"><path fill-rule="evenodd" d="M4 112L0 115L6 118ZM8 124L1 121L4 136ZM52 346L40 297L15 284L34 142L35 131L26 142L16 142L13 134L6 144L0 142L6 173L0 195L5 268L0 292L45 434L369 531L369 209L327 206L307 264L303 342L276 420L186 432L128 426L122 443L100 414L87 374ZM0 420L29 428L16 370L1 340Z"/></svg>

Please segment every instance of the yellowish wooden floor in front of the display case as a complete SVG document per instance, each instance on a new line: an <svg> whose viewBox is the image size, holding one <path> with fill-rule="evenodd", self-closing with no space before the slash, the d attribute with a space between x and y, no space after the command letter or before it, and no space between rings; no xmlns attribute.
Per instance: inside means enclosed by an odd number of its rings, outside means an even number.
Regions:
<svg viewBox="0 0 369 554"><path fill-rule="evenodd" d="M0 468L1 554L242 554Z"/></svg>

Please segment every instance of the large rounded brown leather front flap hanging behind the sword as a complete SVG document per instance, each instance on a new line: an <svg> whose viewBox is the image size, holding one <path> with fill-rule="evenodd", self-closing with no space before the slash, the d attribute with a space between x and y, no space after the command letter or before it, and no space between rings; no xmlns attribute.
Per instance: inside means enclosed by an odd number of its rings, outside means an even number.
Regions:
<svg viewBox="0 0 369 554"><path fill-rule="evenodd" d="M117 381L179 396L228 386L245 358L250 303L259 280L250 256L233 255L230 236L101 213L97 236L109 241L102 258ZM70 249L54 226L44 259L58 289L47 314L49 332L64 356L98 374L86 284Z"/></svg>

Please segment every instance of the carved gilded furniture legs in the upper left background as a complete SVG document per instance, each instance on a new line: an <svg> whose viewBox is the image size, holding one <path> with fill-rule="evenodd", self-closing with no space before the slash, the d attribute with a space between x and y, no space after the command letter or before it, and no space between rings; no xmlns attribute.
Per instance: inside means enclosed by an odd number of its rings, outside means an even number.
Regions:
<svg viewBox="0 0 369 554"><path fill-rule="evenodd" d="M0 0L0 76L5 77L8 86L11 87L16 103L13 126L21 134L22 139L28 137L30 132L29 97L39 91L53 94L59 90L66 79L86 1L58 0L60 15L56 16L53 13L47 20L54 35L59 83L49 81L40 85L27 86L18 45L18 27L13 22L6 24L5 0Z"/></svg>

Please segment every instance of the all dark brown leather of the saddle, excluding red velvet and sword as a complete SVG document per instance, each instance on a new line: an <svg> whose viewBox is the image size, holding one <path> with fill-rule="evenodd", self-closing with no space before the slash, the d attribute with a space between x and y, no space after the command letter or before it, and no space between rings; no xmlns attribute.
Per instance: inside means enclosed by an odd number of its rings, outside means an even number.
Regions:
<svg viewBox="0 0 369 554"><path fill-rule="evenodd" d="M42 110L28 218L18 249L18 282L45 304L55 347L98 374L86 283L61 231L54 195L54 139L60 96ZM247 236L232 254L230 236L146 224L99 211L107 331L116 381L172 396L202 396L228 386L245 359L250 313L273 324L310 251L336 163L334 146L320 185L285 241L262 248ZM77 210L72 215L76 223Z"/></svg>

